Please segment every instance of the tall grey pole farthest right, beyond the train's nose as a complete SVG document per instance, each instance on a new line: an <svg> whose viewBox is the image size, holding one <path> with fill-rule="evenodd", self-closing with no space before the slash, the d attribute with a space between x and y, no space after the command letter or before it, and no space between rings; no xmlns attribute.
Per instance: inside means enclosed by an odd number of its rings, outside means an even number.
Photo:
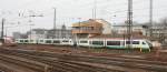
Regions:
<svg viewBox="0 0 167 72"><path fill-rule="evenodd" d="M150 22L150 27L149 27L149 35L153 35L153 0L149 0L149 22Z"/></svg>

